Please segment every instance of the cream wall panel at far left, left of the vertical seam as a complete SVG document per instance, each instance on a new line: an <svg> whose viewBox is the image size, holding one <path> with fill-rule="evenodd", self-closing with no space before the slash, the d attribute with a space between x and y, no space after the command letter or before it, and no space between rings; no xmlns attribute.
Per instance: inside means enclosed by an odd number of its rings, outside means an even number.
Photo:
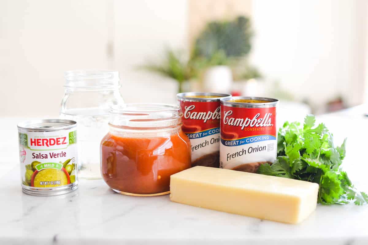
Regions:
<svg viewBox="0 0 368 245"><path fill-rule="evenodd" d="M63 72L107 68L106 4L0 1L0 115L57 116Z"/></svg>

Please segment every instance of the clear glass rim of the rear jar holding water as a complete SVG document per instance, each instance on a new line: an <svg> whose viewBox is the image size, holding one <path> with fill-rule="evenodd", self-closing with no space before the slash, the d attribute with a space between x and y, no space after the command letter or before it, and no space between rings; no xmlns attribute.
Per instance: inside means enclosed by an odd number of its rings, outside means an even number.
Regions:
<svg viewBox="0 0 368 245"><path fill-rule="evenodd" d="M120 87L118 71L98 69L72 70L64 72L66 88L106 89Z"/></svg>

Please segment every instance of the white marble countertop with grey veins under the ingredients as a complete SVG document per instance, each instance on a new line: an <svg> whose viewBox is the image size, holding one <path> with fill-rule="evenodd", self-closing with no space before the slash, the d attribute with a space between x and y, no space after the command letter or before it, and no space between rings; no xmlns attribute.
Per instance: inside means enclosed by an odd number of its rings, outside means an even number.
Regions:
<svg viewBox="0 0 368 245"><path fill-rule="evenodd" d="M336 143L348 137L344 169L368 191L362 108L319 120ZM318 205L307 220L291 225L174 203L168 195L120 195L102 180L81 180L77 191L62 196L23 194L18 121L1 120L0 133L9 140L0 142L0 244L368 244L368 206Z"/></svg>

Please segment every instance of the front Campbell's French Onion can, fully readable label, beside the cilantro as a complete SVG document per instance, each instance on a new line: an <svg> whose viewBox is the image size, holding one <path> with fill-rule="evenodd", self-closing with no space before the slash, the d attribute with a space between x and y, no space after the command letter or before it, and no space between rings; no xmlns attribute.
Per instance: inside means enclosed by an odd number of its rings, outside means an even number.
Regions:
<svg viewBox="0 0 368 245"><path fill-rule="evenodd" d="M257 172L277 154L278 100L232 97L221 100L220 168Z"/></svg>

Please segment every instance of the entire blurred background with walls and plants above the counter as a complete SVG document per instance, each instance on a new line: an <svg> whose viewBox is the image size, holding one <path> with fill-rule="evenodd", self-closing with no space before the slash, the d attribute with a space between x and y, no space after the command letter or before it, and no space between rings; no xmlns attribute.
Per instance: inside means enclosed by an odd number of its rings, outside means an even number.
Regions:
<svg viewBox="0 0 368 245"><path fill-rule="evenodd" d="M125 102L267 96L284 113L367 101L365 0L1 0L0 115L57 116L64 72L120 72Z"/></svg>

